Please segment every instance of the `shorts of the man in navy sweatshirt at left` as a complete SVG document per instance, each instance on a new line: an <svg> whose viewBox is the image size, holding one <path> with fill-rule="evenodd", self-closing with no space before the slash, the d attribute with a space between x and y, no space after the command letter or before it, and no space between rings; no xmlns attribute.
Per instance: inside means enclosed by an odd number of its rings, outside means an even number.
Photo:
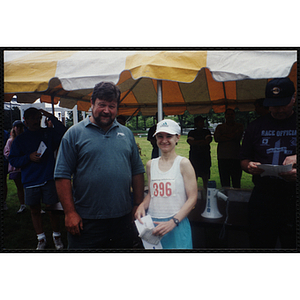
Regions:
<svg viewBox="0 0 300 300"><path fill-rule="evenodd" d="M41 203L41 200L46 205L59 202L54 180L49 180L42 186L28 187L24 190L26 205L37 205Z"/></svg>

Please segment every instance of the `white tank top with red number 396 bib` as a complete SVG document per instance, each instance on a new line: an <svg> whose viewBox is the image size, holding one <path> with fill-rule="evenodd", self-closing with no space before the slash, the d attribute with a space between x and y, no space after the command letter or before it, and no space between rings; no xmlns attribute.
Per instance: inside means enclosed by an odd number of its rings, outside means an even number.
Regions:
<svg viewBox="0 0 300 300"><path fill-rule="evenodd" d="M183 177L180 172L182 156L177 156L170 170L162 172L158 168L158 158L151 161L150 193L148 213L154 218L170 218L181 209L187 200Z"/></svg>

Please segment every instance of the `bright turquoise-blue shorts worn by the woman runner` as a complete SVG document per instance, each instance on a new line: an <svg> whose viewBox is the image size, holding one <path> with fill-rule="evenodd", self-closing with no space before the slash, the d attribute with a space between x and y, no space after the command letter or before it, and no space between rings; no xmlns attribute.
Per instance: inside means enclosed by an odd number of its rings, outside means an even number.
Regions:
<svg viewBox="0 0 300 300"><path fill-rule="evenodd" d="M157 219L154 222L167 222L171 218ZM188 218L184 218L178 226L161 239L163 249L193 249L192 230Z"/></svg>

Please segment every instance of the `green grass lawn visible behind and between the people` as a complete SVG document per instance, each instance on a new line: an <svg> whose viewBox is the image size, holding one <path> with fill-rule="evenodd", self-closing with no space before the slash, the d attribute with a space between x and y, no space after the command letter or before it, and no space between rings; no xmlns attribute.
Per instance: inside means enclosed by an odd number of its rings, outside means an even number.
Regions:
<svg viewBox="0 0 300 300"><path fill-rule="evenodd" d="M176 146L176 153L189 157L189 144L186 142L187 136L181 136L178 145ZM141 158L144 166L148 160L151 159L152 147L147 141L146 137L136 136L136 142L141 148ZM211 178L210 180L215 180L217 183L217 188L221 188L218 165L217 165L217 144L215 142L211 143L211 156L212 156L212 167L211 167ZM2 211L3 213L3 239L1 247L7 250L20 250L22 252L26 250L32 250L36 248L37 239L34 233L33 225L31 222L31 216L29 208L25 210L22 214L17 214L19 209L19 200L17 197L17 189L13 180L7 180L8 183L8 196L7 205L8 210ZM145 174L145 185L147 185L147 176ZM198 187L202 187L202 180L198 179ZM251 176L243 172L241 187L243 189L252 189L253 184L251 181ZM50 226L50 220L48 214L43 214L43 225L44 231L48 241L49 250L55 250L52 242L52 230ZM61 233L62 240L65 245L67 245L67 234L64 228L64 218L61 216ZM46 249L46 250L47 250Z"/></svg>

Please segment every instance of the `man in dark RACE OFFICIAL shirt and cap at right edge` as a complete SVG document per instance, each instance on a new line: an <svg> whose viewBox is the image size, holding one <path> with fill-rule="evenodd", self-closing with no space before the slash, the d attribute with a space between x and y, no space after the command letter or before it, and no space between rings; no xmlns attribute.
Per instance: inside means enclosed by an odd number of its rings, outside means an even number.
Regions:
<svg viewBox="0 0 300 300"><path fill-rule="evenodd" d="M251 122L241 148L241 166L253 175L249 200L251 248L296 247L297 116L295 87L289 78L266 86L270 113ZM264 176L261 164L292 165L278 176Z"/></svg>

